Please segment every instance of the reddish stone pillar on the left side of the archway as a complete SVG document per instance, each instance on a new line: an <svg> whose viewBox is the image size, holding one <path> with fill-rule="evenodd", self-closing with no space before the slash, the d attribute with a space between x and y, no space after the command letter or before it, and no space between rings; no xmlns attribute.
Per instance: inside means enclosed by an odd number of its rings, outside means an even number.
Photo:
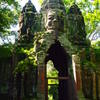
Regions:
<svg viewBox="0 0 100 100"><path fill-rule="evenodd" d="M45 66L38 66L38 100L45 100Z"/></svg>

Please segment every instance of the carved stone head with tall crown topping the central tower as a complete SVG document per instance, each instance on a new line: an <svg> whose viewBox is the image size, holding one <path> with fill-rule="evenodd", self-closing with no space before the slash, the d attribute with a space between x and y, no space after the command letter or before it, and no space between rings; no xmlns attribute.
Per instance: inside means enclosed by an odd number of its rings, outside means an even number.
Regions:
<svg viewBox="0 0 100 100"><path fill-rule="evenodd" d="M62 0L47 0L43 3L41 12L45 12L44 26L46 31L64 30L65 8Z"/></svg>

